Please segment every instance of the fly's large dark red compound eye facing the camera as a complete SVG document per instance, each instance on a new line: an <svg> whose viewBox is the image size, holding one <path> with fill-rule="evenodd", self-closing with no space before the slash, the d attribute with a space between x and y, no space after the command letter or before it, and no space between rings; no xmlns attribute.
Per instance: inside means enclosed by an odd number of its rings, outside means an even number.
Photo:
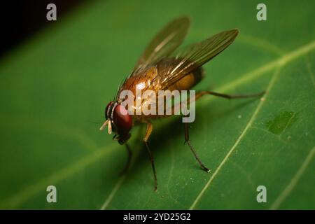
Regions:
<svg viewBox="0 0 315 224"><path fill-rule="evenodd" d="M118 134L126 134L132 129L132 116L128 114L124 106L118 104L113 111L113 123Z"/></svg>

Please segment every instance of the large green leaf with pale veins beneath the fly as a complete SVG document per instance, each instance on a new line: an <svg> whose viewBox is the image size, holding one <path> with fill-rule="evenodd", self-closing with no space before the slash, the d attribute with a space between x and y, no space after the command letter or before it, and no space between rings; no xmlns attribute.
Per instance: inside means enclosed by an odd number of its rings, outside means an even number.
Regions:
<svg viewBox="0 0 315 224"><path fill-rule="evenodd" d="M0 62L1 209L315 209L314 3L106 1L58 18ZM313 7L312 7L313 6ZM58 7L58 6L57 6ZM225 29L241 33L209 62L205 96L187 145L178 117L154 123L158 191L135 128L127 153L99 132L104 107L145 45L167 22L190 15L186 44ZM139 137L139 139L137 139ZM56 186L57 203L46 201ZM257 187L267 188L258 203Z"/></svg>

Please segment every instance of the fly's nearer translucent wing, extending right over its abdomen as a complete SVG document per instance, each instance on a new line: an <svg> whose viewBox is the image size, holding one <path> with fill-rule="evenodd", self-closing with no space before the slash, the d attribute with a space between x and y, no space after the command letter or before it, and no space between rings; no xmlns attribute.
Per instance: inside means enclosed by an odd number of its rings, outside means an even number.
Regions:
<svg viewBox="0 0 315 224"><path fill-rule="evenodd" d="M220 52L235 40L238 29L223 31L211 36L205 41L188 45L187 48L174 53L177 64L164 63L162 66L167 69L167 73L162 80L162 90L167 89L170 85L194 71L210 59L216 57ZM172 57L172 56L171 56Z"/></svg>

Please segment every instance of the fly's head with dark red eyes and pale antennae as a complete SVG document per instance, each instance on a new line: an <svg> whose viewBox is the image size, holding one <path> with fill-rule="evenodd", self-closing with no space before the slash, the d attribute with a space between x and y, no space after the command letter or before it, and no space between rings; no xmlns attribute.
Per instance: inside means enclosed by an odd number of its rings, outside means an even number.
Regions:
<svg viewBox="0 0 315 224"><path fill-rule="evenodd" d="M118 140L118 143L123 145L130 139L130 130L132 129L132 116L125 109L125 106L120 102L109 102L105 109L106 120L99 130L104 130L108 125L108 132L114 132L113 139Z"/></svg>

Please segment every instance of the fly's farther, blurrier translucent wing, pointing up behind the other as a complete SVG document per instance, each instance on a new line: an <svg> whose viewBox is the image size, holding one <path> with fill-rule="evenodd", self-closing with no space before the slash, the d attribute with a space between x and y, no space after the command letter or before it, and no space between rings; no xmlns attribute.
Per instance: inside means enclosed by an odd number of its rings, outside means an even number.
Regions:
<svg viewBox="0 0 315 224"><path fill-rule="evenodd" d="M134 71L139 70L141 67L146 67L149 64L154 64L174 52L183 42L189 25L190 20L187 16L169 22L148 44L146 50L144 50L144 53L134 67ZM136 73L137 72L133 72L132 75Z"/></svg>

